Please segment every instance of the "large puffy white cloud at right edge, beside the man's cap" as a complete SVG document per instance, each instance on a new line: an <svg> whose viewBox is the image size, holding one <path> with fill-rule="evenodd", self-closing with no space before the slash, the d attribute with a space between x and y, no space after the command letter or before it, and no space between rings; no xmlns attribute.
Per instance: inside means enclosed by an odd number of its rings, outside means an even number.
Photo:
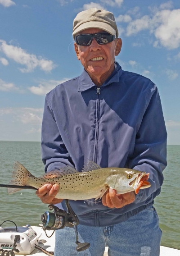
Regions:
<svg viewBox="0 0 180 256"><path fill-rule="evenodd" d="M178 48L180 46L180 9L164 9L157 11L152 18L144 15L135 19L128 24L126 35L131 36L145 29L154 33L156 37L154 47L161 44L168 49Z"/></svg>

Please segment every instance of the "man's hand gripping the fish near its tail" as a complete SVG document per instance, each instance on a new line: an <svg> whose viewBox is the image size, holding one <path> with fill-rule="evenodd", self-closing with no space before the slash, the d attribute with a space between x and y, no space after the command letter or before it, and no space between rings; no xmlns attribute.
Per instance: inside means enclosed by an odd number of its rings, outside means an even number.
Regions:
<svg viewBox="0 0 180 256"><path fill-rule="evenodd" d="M40 187L36 191L36 195L40 198L40 200L45 204L58 204L63 201L63 199L55 198L56 194L58 193L59 186L57 184L45 184L44 186Z"/></svg>

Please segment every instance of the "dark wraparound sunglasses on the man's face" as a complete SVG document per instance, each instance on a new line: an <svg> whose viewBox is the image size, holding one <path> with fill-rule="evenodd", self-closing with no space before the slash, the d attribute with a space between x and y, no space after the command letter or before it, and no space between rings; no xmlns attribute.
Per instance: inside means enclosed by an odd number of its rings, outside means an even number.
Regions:
<svg viewBox="0 0 180 256"><path fill-rule="evenodd" d="M90 44L93 41L93 38L95 38L96 42L99 45L107 44L116 38L116 36L113 36L109 34L108 32L100 32L96 34L81 34L75 37L75 42L79 46L90 46Z"/></svg>

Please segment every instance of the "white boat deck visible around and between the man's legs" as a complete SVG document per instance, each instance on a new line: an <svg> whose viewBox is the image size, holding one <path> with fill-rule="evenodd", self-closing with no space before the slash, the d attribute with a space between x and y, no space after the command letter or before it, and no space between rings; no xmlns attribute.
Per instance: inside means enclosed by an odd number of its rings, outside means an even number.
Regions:
<svg viewBox="0 0 180 256"><path fill-rule="evenodd" d="M42 235L40 237L40 240L44 239L44 240L47 241L44 244L40 243L39 246L43 247L47 251L54 251L55 235L53 234L53 236L51 238L47 238L46 235L45 235L45 232L43 231L43 229L41 227L32 226L31 228L34 229L38 235L40 233L42 233ZM51 233L52 233L52 231L47 231L48 236ZM108 251L108 247L106 247L106 249L105 249L104 256L108 256L107 251ZM36 249L34 251L32 251L30 255L35 255L36 253L38 253L38 256L45 256L46 255L43 252L38 251ZM20 254L18 254L18 255L20 255ZM22 256L24 256L24 255L22 255ZM176 249L173 249L173 248L161 246L160 256L180 256L180 250L176 250Z"/></svg>

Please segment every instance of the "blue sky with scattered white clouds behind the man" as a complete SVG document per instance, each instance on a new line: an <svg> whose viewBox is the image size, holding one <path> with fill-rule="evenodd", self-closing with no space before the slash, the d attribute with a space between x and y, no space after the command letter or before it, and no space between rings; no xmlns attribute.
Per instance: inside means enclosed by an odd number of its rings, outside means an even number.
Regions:
<svg viewBox="0 0 180 256"><path fill-rule="evenodd" d="M72 23L91 7L116 17L116 60L157 84L168 144L180 145L179 0L0 0L0 140L40 141L45 94L82 72Z"/></svg>

